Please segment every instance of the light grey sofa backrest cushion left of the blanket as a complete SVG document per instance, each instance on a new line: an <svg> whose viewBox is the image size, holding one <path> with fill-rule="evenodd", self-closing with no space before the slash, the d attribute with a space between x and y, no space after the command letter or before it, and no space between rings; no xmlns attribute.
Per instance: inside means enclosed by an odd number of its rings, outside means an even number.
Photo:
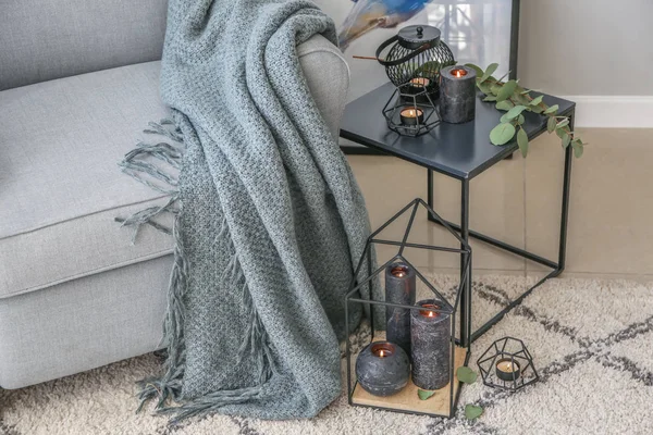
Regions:
<svg viewBox="0 0 653 435"><path fill-rule="evenodd" d="M0 0L0 90L161 59L168 0Z"/></svg>

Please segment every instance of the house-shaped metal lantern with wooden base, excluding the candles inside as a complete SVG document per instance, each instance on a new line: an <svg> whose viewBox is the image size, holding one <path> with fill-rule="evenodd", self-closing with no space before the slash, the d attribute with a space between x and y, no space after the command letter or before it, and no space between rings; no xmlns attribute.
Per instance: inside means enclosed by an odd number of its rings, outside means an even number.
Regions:
<svg viewBox="0 0 653 435"><path fill-rule="evenodd" d="M431 219L440 222L447 231L448 235L455 238L459 248L443 247L435 245L424 245L408 241L410 231L412 229L414 222L417 215L417 211L420 208L424 208ZM403 232L401 240L390 240L379 237L379 234L395 222L399 216L410 213L408 224ZM420 213L420 216L423 215ZM392 246L397 247L398 251L387 262L381 266L377 266L375 263L375 248L380 246ZM460 257L460 274L459 284L455 286L452 294L443 289L438 289L421 272L420 268L415 266L415 262L410 262L409 252L418 251L440 251L445 253L452 253ZM356 357L358 350L353 349L350 328L356 326L349 324L352 315L352 308L359 309L368 308L369 323L371 326L371 334L369 343L385 340L385 309L386 308L401 308L406 310L422 310L423 307L419 304L401 304L385 301L385 291L379 291L374 295L373 287L378 285L379 289L382 287L382 279L380 279L381 273L384 273L389 265L401 262L406 264L408 268L415 271L416 279L419 287L419 291L428 294L431 298L434 298L442 303L436 308L429 309L429 311L436 312L443 316L447 316L451 322L451 336L448 338L448 345L451 346L448 366L448 384L444 387L434 390L434 395L427 400L420 400L418 397L418 387L412 383L410 378L408 385L404 387L399 393L396 393L387 397L378 397L370 395L366 391L356 380L353 380L353 360ZM367 239L365 250L361 254L360 261L354 272L352 284L349 285L349 291L345 296L345 325L346 325L346 369L347 369L347 396L349 405L359 407L369 407L374 409L383 409L386 411L406 412L414 414L426 414L432 417L444 417L452 418L455 414L458 397L460 394L461 383L457 381L456 370L459 366L467 365L469 362L470 348L469 348L469 336L466 341L466 347L460 347L460 339L456 337L456 315L460 308L460 295L469 283L470 276L470 263L471 263L471 249L469 245L464 241L459 234L454 232L451 226L440 215L438 215L433 209L431 209L422 199L417 198L410 201L398 213L391 217L384 223L379 229L373 232ZM458 276L458 275L455 275ZM377 283L377 284L374 284ZM367 289L366 294L370 295L370 298L362 298L359 290ZM455 291L455 294L453 293ZM382 294L382 295L380 295ZM447 300L444 294L449 295L449 299L455 299L453 302ZM355 306L355 307L350 307ZM356 312L356 310L354 311ZM412 311L415 312L415 311ZM380 326L380 327L379 327ZM366 339L367 341L367 339ZM357 346L360 345L357 343ZM365 346L364 346L365 347Z"/></svg>

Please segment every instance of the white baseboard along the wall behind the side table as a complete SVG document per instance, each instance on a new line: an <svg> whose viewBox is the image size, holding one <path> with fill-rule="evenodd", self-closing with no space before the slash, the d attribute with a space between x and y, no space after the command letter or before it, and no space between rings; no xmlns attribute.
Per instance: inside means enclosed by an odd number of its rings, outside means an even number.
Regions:
<svg viewBox="0 0 653 435"><path fill-rule="evenodd" d="M653 128L653 96L567 96L576 101L576 126Z"/></svg>

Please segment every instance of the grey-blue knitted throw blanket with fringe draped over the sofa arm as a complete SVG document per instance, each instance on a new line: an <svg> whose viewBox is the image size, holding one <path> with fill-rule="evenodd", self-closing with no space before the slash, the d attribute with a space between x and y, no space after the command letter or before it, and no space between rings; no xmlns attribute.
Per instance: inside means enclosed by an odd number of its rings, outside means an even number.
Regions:
<svg viewBox="0 0 653 435"><path fill-rule="evenodd" d="M171 197L121 222L165 231L155 217L176 216L168 360L140 394L175 419L309 418L341 391L344 295L369 223L298 62L315 34L336 41L308 1L170 1L161 94L173 121L148 130L170 140L121 165Z"/></svg>

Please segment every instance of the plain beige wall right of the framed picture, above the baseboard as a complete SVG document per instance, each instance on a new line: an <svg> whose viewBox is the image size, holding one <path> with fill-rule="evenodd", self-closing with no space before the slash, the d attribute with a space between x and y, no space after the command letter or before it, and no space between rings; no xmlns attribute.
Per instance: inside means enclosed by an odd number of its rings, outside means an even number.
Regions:
<svg viewBox="0 0 653 435"><path fill-rule="evenodd" d="M521 0L518 76L567 96L653 96L653 0Z"/></svg>

